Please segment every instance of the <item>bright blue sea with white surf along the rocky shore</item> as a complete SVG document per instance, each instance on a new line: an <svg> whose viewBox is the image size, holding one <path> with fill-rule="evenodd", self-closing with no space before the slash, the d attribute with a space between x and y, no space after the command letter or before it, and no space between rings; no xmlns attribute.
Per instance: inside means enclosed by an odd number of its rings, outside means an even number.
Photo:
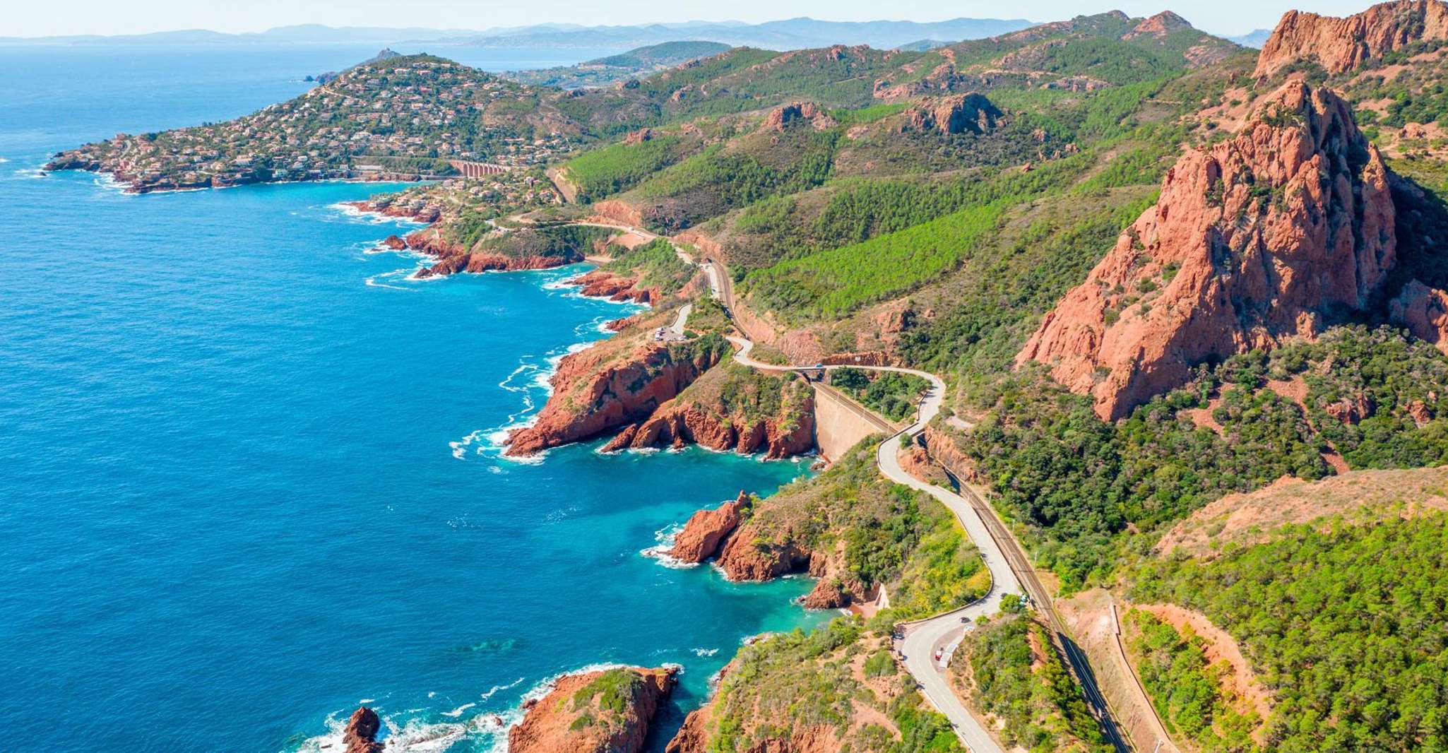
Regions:
<svg viewBox="0 0 1448 753"><path fill-rule="evenodd" d="M0 749L321 750L365 702L388 750L494 750L526 694L608 662L683 666L668 727L744 637L824 618L805 581L643 555L805 462L498 456L631 311L559 285L578 268L408 281L374 249L404 226L337 207L375 185L36 171L374 52L0 48Z"/></svg>

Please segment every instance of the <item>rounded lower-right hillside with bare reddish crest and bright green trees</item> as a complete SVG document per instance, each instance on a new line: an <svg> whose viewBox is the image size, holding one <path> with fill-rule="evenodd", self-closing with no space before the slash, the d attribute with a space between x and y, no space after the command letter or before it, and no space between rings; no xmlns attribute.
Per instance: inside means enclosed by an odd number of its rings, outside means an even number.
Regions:
<svg viewBox="0 0 1448 753"><path fill-rule="evenodd" d="M1348 500L1350 485L1373 487ZM1270 694L1264 730L1251 739L1234 723L1231 679L1192 657L1192 641L1169 640L1160 679L1148 691L1199 750L1442 750L1448 727L1436 715L1445 685L1442 469L1386 471L1361 478L1296 484L1234 500L1231 518L1260 530L1234 536L1200 560L1183 547L1135 571L1129 597L1195 610L1241 644ZM1405 514L1420 500L1435 510ZM1326 501L1321 510L1319 501ZM1281 510L1289 513L1283 514ZM1203 511L1186 526L1219 520ZM1211 523L1215 526L1215 523ZM1228 527L1232 523L1226 523ZM1196 550L1192 550L1196 552ZM1177 634L1180 636L1180 634ZM1174 647L1173 647L1174 646ZM1228 678L1231 678L1231 672ZM1364 682L1364 678L1371 678ZM1196 683L1190 707L1167 694ZM1222 688L1222 689L1218 689ZM1228 747L1229 746L1229 747Z"/></svg>

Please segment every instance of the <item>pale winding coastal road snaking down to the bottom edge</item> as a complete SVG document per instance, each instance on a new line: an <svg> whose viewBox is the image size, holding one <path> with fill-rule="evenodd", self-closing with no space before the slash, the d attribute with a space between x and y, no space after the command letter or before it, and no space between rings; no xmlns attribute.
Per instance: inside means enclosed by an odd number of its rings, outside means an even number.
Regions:
<svg viewBox="0 0 1448 753"><path fill-rule="evenodd" d="M814 368L780 366L776 363L754 361L749 355L754 348L753 342L743 337L730 337L728 340L736 348L734 361L746 366L762 371L817 371ZM834 369L840 366L824 368ZM990 531L986 529L980 514L970 505L970 502L953 491L919 481L918 478L906 474L899 465L899 452L905 437L914 437L915 434L924 432L925 424L928 424L931 418L940 413L940 405L946 398L946 382L934 374L901 366L850 368L912 374L930 382L930 387L925 390L925 397L921 400L915 421L882 442L875 450L875 460L879 463L880 474L883 474L885 478L925 492L954 513L956 520L960 521L966 534L970 536L976 549L980 550L980 559L985 560L986 568L990 571L990 591L985 598L959 610L906 624L905 637L899 641L898 647L905 656L905 669L919 683L921 692L925 694L925 698L930 699L931 705L950 720L950 724L954 727L960 741L964 743L972 753L1003 753L1001 744L990 737L989 731L986 731L985 724L966 710L964 704L960 702L960 698L950 688L950 679L946 673L946 668L935 662L935 649L944 649L953 643L954 639L969 628L976 617L1001 611L1001 597L1005 594L1021 594L1021 585L1016 582L1015 573L1012 572L1005 555L1001 552L995 537L990 536Z"/></svg>

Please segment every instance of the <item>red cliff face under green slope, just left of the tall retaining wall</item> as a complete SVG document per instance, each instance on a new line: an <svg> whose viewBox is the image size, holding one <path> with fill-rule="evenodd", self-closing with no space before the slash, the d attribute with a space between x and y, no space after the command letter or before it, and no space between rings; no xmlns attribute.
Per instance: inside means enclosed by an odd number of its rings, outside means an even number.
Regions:
<svg viewBox="0 0 1448 753"><path fill-rule="evenodd" d="M694 404L675 403L663 405L643 423L626 427L602 452L688 443L741 455L765 452L770 459L804 455L814 449L814 401L804 407L789 427L782 427L775 418L749 423L740 417L717 416Z"/></svg>

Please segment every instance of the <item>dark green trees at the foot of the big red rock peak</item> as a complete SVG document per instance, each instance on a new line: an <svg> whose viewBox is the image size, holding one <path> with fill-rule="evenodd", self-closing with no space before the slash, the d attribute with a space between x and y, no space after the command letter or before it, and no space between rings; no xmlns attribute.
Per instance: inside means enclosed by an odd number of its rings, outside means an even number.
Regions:
<svg viewBox="0 0 1448 753"><path fill-rule="evenodd" d="M1299 376L1306 410L1268 388ZM1332 447L1351 468L1448 462L1448 420L1412 417L1415 404L1442 416L1445 397L1448 358L1432 346L1390 329L1338 327L1316 343L1202 366L1116 424L1024 369L979 390L990 416L963 450L990 478L1002 513L1025 527L1037 560L1072 591L1112 571L1128 524L1151 531L1228 492L1284 475L1322 478ZM1335 416L1351 418L1360 401L1373 408L1355 421ZM1187 413L1202 408L1221 434Z"/></svg>

